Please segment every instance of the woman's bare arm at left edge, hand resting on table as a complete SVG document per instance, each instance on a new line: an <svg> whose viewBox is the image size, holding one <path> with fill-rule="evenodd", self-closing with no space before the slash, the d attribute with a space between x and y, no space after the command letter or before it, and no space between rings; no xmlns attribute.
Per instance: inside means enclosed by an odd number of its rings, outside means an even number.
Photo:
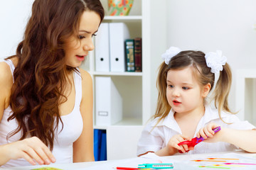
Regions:
<svg viewBox="0 0 256 170"><path fill-rule="evenodd" d="M10 67L4 62L0 62L0 122L4 114L4 109L9 106L12 85L13 79ZM10 159L19 158L26 159L32 165L36 164L36 162L38 164L55 162L50 149L37 137L0 145L0 158L0 166L9 162Z"/></svg>

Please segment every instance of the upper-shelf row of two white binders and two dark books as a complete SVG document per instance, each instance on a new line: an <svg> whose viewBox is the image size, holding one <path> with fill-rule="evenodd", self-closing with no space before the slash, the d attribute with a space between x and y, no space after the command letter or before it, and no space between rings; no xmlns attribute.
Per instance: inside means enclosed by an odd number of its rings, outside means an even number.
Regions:
<svg viewBox="0 0 256 170"><path fill-rule="evenodd" d="M96 72L142 72L142 38L125 23L101 23L95 38Z"/></svg>

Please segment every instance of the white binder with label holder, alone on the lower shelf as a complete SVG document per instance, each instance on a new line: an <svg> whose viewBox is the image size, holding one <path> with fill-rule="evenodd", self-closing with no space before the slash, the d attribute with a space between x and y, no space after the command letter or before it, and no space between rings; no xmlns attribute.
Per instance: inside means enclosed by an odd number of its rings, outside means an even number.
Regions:
<svg viewBox="0 0 256 170"><path fill-rule="evenodd" d="M122 97L111 77L95 77L95 124L113 125L122 120Z"/></svg>

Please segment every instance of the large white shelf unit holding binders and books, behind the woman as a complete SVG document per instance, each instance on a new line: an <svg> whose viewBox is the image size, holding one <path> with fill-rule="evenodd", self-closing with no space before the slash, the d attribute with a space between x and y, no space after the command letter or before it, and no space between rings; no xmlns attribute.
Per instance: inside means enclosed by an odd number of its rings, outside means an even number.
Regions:
<svg viewBox="0 0 256 170"><path fill-rule="evenodd" d="M123 120L116 125L144 125L156 108L156 69L166 50L166 0L135 0L129 16L107 16L107 0L101 1L105 8L102 22L126 23L130 38L142 38L142 72L95 72L94 51L81 67L90 72L93 84L97 76L112 77L123 99Z"/></svg>

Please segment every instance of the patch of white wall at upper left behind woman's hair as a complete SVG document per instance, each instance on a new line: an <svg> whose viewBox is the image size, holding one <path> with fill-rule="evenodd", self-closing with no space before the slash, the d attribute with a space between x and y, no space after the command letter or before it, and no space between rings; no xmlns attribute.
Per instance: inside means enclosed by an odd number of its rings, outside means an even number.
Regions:
<svg viewBox="0 0 256 170"><path fill-rule="evenodd" d="M33 0L1 0L0 58L14 55L23 38Z"/></svg>

